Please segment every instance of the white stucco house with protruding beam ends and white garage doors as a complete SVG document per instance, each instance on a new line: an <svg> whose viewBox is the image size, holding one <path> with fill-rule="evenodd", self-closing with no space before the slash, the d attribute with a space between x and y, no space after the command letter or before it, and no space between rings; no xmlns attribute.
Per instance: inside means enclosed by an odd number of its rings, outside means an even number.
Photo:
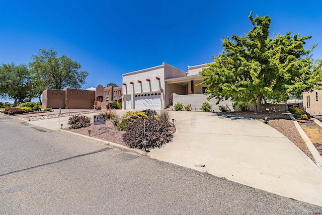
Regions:
<svg viewBox="0 0 322 215"><path fill-rule="evenodd" d="M191 104L192 110L200 111L206 85L202 83L199 71L206 64L188 66L188 73L167 63L146 68L132 73L123 74L123 109L164 109L176 103L184 106ZM209 103L213 110L218 111L216 100ZM224 101L220 105L228 105L233 110L231 102Z"/></svg>

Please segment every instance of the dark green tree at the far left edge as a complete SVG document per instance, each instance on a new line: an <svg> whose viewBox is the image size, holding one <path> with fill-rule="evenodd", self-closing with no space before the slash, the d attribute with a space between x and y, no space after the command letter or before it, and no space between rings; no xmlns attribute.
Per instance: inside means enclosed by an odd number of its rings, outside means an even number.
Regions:
<svg viewBox="0 0 322 215"><path fill-rule="evenodd" d="M14 62L0 66L0 96L14 99L18 103L30 101L35 94L32 88L32 75L26 65L16 65Z"/></svg>

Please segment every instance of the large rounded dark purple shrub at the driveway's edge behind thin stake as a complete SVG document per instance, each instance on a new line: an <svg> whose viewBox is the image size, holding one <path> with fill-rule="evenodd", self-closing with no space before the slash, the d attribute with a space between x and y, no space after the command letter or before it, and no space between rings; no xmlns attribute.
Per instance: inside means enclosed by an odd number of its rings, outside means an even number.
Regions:
<svg viewBox="0 0 322 215"><path fill-rule="evenodd" d="M143 119L131 123L123 134L124 142L130 148L143 148ZM160 148L173 138L173 125L169 121L160 121L150 116L145 123L145 140L147 148Z"/></svg>

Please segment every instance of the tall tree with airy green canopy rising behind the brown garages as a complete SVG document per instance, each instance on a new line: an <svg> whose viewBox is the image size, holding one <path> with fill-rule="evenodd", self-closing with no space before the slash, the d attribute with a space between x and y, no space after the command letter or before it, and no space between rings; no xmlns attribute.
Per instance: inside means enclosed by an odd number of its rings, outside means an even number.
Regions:
<svg viewBox="0 0 322 215"><path fill-rule="evenodd" d="M66 87L81 88L86 82L87 71L81 71L81 64L65 55L57 57L54 49L39 49L38 55L32 55L29 67L38 83L39 92L50 88L62 90Z"/></svg>

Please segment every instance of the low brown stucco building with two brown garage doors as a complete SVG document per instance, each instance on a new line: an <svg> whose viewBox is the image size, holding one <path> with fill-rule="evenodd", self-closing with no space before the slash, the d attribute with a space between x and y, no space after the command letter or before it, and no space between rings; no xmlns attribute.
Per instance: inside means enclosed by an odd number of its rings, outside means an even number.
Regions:
<svg viewBox="0 0 322 215"><path fill-rule="evenodd" d="M95 91L66 88L42 92L42 108L93 109Z"/></svg>

